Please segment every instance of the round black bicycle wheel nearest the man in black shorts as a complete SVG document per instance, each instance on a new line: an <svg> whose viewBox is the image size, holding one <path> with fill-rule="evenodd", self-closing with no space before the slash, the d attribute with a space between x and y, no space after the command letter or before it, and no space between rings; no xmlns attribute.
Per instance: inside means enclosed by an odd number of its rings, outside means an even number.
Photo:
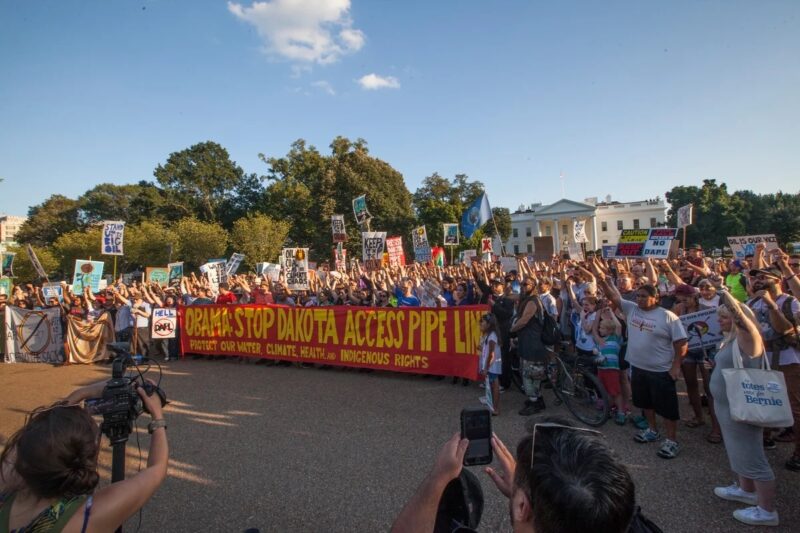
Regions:
<svg viewBox="0 0 800 533"><path fill-rule="evenodd" d="M578 367L562 375L558 396L567 409L589 426L602 426L611 414L611 402L603 384L588 370Z"/></svg>

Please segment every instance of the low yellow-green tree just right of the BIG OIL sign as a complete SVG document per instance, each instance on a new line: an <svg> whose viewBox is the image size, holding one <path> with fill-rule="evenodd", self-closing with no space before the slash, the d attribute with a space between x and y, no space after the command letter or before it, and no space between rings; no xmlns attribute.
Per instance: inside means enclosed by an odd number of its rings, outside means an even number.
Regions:
<svg viewBox="0 0 800 533"><path fill-rule="evenodd" d="M159 222L143 220L125 226L124 269L166 266L170 259L177 261L178 242L173 228Z"/></svg>

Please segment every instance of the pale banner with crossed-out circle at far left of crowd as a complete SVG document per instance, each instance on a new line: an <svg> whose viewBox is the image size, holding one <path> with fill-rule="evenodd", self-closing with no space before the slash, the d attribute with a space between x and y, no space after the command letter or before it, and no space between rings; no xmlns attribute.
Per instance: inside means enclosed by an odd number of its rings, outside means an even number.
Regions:
<svg viewBox="0 0 800 533"><path fill-rule="evenodd" d="M21 309L6 306L6 363L61 363L64 341L61 330L61 309Z"/></svg>

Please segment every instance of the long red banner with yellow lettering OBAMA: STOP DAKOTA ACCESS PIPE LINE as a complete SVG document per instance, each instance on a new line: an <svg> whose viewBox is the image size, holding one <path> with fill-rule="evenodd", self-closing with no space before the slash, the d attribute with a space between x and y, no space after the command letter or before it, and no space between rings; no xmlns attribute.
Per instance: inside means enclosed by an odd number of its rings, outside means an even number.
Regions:
<svg viewBox="0 0 800 533"><path fill-rule="evenodd" d="M486 306L181 307L181 353L245 356L477 379Z"/></svg>

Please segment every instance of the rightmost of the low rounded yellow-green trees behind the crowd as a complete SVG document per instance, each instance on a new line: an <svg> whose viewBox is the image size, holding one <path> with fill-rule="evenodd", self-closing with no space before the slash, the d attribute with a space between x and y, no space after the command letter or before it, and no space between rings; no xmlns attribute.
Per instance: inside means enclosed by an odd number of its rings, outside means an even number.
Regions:
<svg viewBox="0 0 800 533"><path fill-rule="evenodd" d="M243 253L248 265L275 262L289 235L291 224L262 214L248 215L233 223L231 246Z"/></svg>

